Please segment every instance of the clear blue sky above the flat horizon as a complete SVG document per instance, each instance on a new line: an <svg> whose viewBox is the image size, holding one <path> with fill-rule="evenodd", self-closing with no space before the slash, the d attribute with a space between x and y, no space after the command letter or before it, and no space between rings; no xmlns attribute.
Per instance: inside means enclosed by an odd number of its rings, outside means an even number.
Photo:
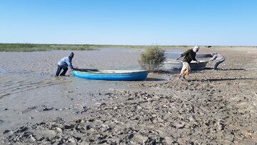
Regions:
<svg viewBox="0 0 257 145"><path fill-rule="evenodd" d="M256 0L1 0L0 43L257 46Z"/></svg>

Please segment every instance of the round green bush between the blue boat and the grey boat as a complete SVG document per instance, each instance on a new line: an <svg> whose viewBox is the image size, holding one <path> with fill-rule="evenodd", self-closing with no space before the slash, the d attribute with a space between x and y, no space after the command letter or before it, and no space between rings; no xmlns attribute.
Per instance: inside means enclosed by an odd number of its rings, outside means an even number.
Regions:
<svg viewBox="0 0 257 145"><path fill-rule="evenodd" d="M141 54L138 63L142 69L159 71L165 59L164 51L160 49L159 46L151 46Z"/></svg>

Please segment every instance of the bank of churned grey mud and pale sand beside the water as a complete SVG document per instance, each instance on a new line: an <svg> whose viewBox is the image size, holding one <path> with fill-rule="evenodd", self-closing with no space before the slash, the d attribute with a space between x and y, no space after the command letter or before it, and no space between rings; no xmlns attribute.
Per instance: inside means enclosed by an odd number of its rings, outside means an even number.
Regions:
<svg viewBox="0 0 257 145"><path fill-rule="evenodd" d="M81 107L67 109L70 110L67 114L72 111L80 114L74 119L51 117L4 129L0 141L6 144L257 144L257 48L211 47L202 48L199 53L213 51L226 56L218 70L211 70L214 64L211 62L207 69L193 71L184 81L174 79L178 74L161 74L171 77L128 82L124 87L117 87L120 84L116 82L116 86L111 84L93 93L78 94L76 87L67 90L71 91L67 92L70 99L91 96L97 99L96 104L88 106L81 102ZM28 110L51 114L56 109L38 106Z"/></svg>

